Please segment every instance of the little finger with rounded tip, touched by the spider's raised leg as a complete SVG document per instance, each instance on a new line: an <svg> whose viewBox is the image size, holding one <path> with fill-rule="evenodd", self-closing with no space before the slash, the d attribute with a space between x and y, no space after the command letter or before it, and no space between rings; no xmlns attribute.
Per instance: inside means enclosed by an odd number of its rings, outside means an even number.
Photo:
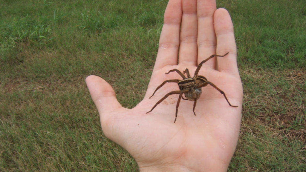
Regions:
<svg viewBox="0 0 306 172"><path fill-rule="evenodd" d="M220 8L215 11L214 26L217 36L217 54L229 52L225 57L217 57L218 70L239 75L234 28L226 9Z"/></svg>

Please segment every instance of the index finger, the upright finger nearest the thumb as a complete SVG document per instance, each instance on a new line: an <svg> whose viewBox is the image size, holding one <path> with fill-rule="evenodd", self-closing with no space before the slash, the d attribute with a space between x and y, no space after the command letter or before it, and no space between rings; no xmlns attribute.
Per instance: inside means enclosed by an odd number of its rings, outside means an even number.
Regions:
<svg viewBox="0 0 306 172"><path fill-rule="evenodd" d="M165 11L164 25L159 39L159 49L154 70L166 65L177 65L181 18L182 1L170 0Z"/></svg>

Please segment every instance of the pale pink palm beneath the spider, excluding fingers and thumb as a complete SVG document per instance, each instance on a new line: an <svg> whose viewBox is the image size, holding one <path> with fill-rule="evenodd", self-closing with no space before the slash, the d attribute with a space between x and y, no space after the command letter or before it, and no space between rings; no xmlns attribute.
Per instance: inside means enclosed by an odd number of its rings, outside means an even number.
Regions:
<svg viewBox="0 0 306 172"><path fill-rule="evenodd" d="M241 107L230 107L224 96L213 87L208 85L202 88L202 96L198 99L195 109L197 116L192 112L193 102L181 100L178 120L173 123L178 95L170 95L152 112L144 114L168 92L178 90L176 83L167 83L148 99L163 81L180 78L177 73L165 74L174 68L183 71L186 66L167 66L153 73L144 100L128 112L132 119L127 122L129 126L126 127L135 126L133 132L137 133L123 132L120 137L127 136L127 140L131 136L137 137L130 140L133 144L127 144L132 147L124 148L132 155L139 155L134 156L138 159L139 166L142 166L142 162L146 165L151 162L154 166L160 159L165 158L169 162L185 166L188 166L188 160L192 159L193 163L198 163L199 169L218 161L229 162L237 144L240 127L240 115L237 114L241 113ZM194 72L196 66L188 68L190 72ZM202 69L200 74L202 73L208 80L211 78L210 81L217 86L222 86L232 104L239 103L234 101L234 91L240 87L240 79L218 71ZM201 163L203 159L206 159L207 164Z"/></svg>

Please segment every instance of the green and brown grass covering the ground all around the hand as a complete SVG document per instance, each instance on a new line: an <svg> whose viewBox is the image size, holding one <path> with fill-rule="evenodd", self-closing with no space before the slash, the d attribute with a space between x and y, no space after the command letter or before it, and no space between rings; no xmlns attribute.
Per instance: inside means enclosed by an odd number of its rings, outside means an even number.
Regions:
<svg viewBox="0 0 306 172"><path fill-rule="evenodd" d="M136 106L166 4L2 0L0 171L138 171L103 135L84 79L103 77L124 107ZM305 171L304 1L218 0L217 6L233 19L244 86L228 171Z"/></svg>

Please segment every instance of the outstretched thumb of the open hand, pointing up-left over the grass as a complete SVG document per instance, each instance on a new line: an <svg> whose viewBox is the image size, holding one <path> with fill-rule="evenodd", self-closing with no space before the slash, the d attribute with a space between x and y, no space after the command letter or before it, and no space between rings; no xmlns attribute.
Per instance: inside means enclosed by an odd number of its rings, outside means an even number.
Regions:
<svg viewBox="0 0 306 172"><path fill-rule="evenodd" d="M116 98L114 89L102 78L93 75L88 76L86 84L101 119L102 115L109 114L110 111L115 111L122 107Z"/></svg>

